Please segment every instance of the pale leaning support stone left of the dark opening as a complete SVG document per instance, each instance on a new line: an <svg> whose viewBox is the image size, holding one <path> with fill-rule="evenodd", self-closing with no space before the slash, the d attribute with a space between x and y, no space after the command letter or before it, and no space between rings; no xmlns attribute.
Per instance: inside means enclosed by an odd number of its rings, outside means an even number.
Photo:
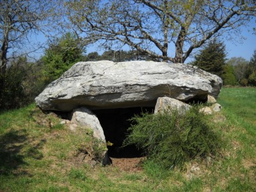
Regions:
<svg viewBox="0 0 256 192"><path fill-rule="evenodd" d="M74 109L71 122L83 125L93 130L93 137L106 142L104 131L97 116L87 108Z"/></svg>

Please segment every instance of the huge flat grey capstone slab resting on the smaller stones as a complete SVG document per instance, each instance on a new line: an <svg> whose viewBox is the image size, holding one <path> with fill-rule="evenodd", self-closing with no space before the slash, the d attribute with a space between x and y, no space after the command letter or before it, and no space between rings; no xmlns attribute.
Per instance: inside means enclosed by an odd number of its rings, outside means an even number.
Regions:
<svg viewBox="0 0 256 192"><path fill-rule="evenodd" d="M130 108L155 106L164 96L183 101L217 97L221 86L220 77L191 65L88 61L76 63L35 100L44 110Z"/></svg>

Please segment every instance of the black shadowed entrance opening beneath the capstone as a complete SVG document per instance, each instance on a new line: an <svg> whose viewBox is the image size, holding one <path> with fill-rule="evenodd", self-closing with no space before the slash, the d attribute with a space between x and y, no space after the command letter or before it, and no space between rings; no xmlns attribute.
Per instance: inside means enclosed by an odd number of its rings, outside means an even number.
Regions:
<svg viewBox="0 0 256 192"><path fill-rule="evenodd" d="M100 121L106 141L113 143L112 146L108 145L108 155L110 157L132 158L143 156L143 152L134 145L122 147L127 134L129 134L127 129L132 124L129 119L134 115L141 115L142 112L154 113L154 108L118 108L93 111Z"/></svg>

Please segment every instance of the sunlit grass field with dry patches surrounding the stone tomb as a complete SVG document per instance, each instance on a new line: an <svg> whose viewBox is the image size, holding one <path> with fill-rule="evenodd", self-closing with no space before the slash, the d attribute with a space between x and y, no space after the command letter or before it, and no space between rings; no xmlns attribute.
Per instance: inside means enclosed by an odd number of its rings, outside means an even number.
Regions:
<svg viewBox="0 0 256 192"><path fill-rule="evenodd" d="M134 172L82 161L91 132L76 131L32 104L0 114L0 191L256 191L256 89L223 88L212 124L226 145L216 157Z"/></svg>

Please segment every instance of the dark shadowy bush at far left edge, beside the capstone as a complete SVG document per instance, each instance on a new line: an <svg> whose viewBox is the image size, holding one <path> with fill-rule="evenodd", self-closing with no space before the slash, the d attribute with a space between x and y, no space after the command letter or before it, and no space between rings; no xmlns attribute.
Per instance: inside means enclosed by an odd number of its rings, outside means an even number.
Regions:
<svg viewBox="0 0 256 192"><path fill-rule="evenodd" d="M40 65L29 62L26 57L15 58L6 68L4 76L0 76L0 111L34 102L44 87Z"/></svg>

